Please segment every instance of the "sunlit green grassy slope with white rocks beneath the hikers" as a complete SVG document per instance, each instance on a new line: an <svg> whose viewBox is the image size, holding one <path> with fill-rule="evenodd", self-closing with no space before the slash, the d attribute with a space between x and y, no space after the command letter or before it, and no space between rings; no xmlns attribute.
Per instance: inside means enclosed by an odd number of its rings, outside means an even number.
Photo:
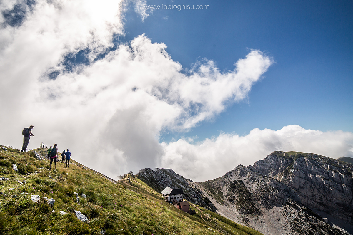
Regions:
<svg viewBox="0 0 353 235"><path fill-rule="evenodd" d="M49 171L49 162L36 160L32 151L19 153L6 149L0 151L0 176L10 180L0 181L0 193L6 194L0 195L0 235L101 234L101 231L105 234L261 234L197 205L191 205L197 211L195 215L180 211L137 178L132 178L131 183L128 179L113 181L74 160L70 168L58 163L57 169L53 164ZM35 150L45 155L46 149ZM12 169L12 164L17 165L19 172ZM23 180L26 182L20 185L18 181ZM20 195L22 192L28 194ZM73 192L84 193L87 199L80 197L78 204ZM33 203L32 194L40 195L41 202ZM43 197L54 198L54 206L49 206ZM61 210L67 214L59 214ZM74 210L86 215L90 223L79 221Z"/></svg>

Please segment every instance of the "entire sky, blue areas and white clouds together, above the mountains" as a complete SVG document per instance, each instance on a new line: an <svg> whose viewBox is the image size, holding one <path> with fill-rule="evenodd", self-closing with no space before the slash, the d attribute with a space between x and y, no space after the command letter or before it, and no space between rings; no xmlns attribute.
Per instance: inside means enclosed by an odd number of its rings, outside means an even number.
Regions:
<svg viewBox="0 0 353 235"><path fill-rule="evenodd" d="M149 5L208 5L146 10ZM0 144L194 181L276 150L353 157L352 1L0 2ZM49 114L49 115L48 115ZM48 131L51 130L51 131Z"/></svg>

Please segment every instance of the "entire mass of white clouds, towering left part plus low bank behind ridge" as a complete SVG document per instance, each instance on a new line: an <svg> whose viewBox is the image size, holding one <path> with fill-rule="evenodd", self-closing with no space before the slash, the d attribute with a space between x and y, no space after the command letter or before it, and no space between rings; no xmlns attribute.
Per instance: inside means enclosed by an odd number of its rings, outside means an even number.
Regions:
<svg viewBox="0 0 353 235"><path fill-rule="evenodd" d="M253 160L270 149L291 147L289 138L268 139L254 133L271 130L256 129L247 138L222 134L195 145L185 140L161 144L163 131L187 132L246 98L273 60L251 50L234 63L232 71L221 72L207 59L184 69L172 60L165 44L152 43L145 35L117 44L114 38L125 33L127 3L1 2L1 144L20 148L20 131L34 125L29 148L57 143L61 151L70 149L73 159L112 178L145 167L168 167L195 180L249 162L231 161L232 153L241 158L250 151L240 148L247 146L242 141L259 148L251 150ZM148 17L141 11L145 1L134 4L142 19ZM311 130L303 133L306 138L313 135ZM334 137L334 147L340 151L352 147L350 133L322 135L327 142ZM253 136L257 139L250 140ZM300 151L301 143L293 148ZM187 167L178 166L179 160ZM217 166L214 174L205 171L207 164Z"/></svg>

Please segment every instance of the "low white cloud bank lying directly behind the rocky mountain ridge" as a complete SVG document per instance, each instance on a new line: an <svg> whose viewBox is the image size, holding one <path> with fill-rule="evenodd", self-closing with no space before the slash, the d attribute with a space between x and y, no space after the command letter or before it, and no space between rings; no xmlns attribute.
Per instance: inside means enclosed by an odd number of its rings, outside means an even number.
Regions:
<svg viewBox="0 0 353 235"><path fill-rule="evenodd" d="M205 181L221 177L240 164L253 165L276 150L316 153L335 159L353 157L353 133L288 125L277 131L256 128L246 136L222 133L196 144L180 139L162 146L165 154L161 167L172 168L195 181Z"/></svg>

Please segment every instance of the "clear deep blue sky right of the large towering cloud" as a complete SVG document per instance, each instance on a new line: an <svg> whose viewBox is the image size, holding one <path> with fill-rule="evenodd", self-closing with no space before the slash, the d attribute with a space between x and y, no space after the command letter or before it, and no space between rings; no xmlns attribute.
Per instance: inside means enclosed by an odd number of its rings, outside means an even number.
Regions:
<svg viewBox="0 0 353 235"><path fill-rule="evenodd" d="M172 4L147 1L147 5ZM328 131L353 131L352 1L173 1L209 5L207 10L155 10L142 22L130 11L126 37L145 33L163 42L174 61L189 68L197 59L233 70L250 49L275 60L249 98L186 135L203 139L220 131L249 134L289 124ZM163 19L167 17L167 19ZM161 140L178 139L180 133Z"/></svg>

